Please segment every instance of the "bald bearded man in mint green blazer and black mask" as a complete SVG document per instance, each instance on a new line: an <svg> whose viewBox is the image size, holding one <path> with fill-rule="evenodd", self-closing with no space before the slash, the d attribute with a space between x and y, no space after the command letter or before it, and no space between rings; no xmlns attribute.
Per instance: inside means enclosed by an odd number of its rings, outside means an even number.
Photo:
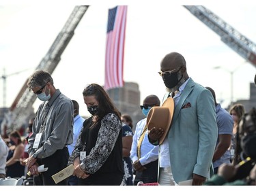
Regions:
<svg viewBox="0 0 256 191"><path fill-rule="evenodd" d="M160 185L177 185L190 180L199 186L211 175L211 164L218 127L216 107L209 90L195 83L186 72L186 60L177 52L162 59L159 72L167 97L173 97L175 108L169 133L160 145ZM157 144L164 134L162 128L152 128L151 143Z"/></svg>

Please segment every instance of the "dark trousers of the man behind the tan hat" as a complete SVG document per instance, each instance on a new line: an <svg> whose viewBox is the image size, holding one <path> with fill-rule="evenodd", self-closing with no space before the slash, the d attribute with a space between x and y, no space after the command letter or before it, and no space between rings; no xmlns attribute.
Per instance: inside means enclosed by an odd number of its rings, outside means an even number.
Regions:
<svg viewBox="0 0 256 191"><path fill-rule="evenodd" d="M147 169L144 171L136 171L133 183L134 186L137 186L139 181L143 181L144 184L158 181L158 160L145 164L145 167Z"/></svg>

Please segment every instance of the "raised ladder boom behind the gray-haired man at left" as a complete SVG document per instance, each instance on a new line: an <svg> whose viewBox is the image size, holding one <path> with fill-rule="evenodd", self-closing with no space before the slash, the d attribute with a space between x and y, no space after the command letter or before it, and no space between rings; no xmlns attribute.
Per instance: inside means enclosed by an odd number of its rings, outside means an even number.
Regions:
<svg viewBox="0 0 256 191"><path fill-rule="evenodd" d="M51 48L48 50L44 58L42 58L40 64L38 67L36 67L35 70L43 69L44 71L48 71L48 73L53 73L59 61L61 60L61 54L68 46L68 43L74 35L74 30L83 18L83 15L87 11L88 7L89 5L74 7L74 10L66 21L66 24L61 29L61 32L59 35L57 35ZM29 108L32 108L36 96L33 94L33 92L29 92L27 88L27 81L28 79L21 88L20 92L18 92L18 95L12 103L8 114L5 114L5 118L1 123L2 130L6 129L6 131L10 132L16 128L20 128L20 126L25 123L27 118L29 118Z"/></svg>

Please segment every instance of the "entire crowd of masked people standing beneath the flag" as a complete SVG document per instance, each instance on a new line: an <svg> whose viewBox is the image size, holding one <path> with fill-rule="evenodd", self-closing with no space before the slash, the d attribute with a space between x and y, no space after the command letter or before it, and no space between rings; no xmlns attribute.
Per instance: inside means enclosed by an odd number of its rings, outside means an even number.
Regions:
<svg viewBox="0 0 256 191"><path fill-rule="evenodd" d="M256 185L255 108L223 109L178 52L162 58L159 75L163 104L145 97L138 105L145 118L133 128L99 84L83 89L85 119L50 73L35 71L27 86L42 104L24 140L18 131L0 137L0 178L33 177L34 186ZM67 167L72 174L56 182L53 175Z"/></svg>

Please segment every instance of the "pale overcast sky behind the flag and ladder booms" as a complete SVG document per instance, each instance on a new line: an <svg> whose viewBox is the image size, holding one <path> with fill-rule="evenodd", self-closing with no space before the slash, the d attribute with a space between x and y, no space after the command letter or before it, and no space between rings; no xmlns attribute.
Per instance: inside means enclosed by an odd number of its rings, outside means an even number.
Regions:
<svg viewBox="0 0 256 191"><path fill-rule="evenodd" d="M88 114L83 88L91 83L104 85L107 14L114 5L97 3L89 7L53 72L55 87L79 102L82 115ZM205 7L256 42L255 5L215 3ZM48 52L73 8L74 5L57 4L0 6L0 76L5 69L7 107ZM169 52L184 56L188 75L195 82L213 88L223 107L230 102L231 71L235 69L233 98L235 101L249 98L255 67L182 5L128 5L126 24L124 80L139 84L141 103L148 94L156 94L162 100L165 86L158 71L160 60ZM218 66L221 69L213 69ZM18 71L21 72L9 76ZM0 92L2 107L3 80ZM40 103L38 99L35 101L35 111Z"/></svg>

